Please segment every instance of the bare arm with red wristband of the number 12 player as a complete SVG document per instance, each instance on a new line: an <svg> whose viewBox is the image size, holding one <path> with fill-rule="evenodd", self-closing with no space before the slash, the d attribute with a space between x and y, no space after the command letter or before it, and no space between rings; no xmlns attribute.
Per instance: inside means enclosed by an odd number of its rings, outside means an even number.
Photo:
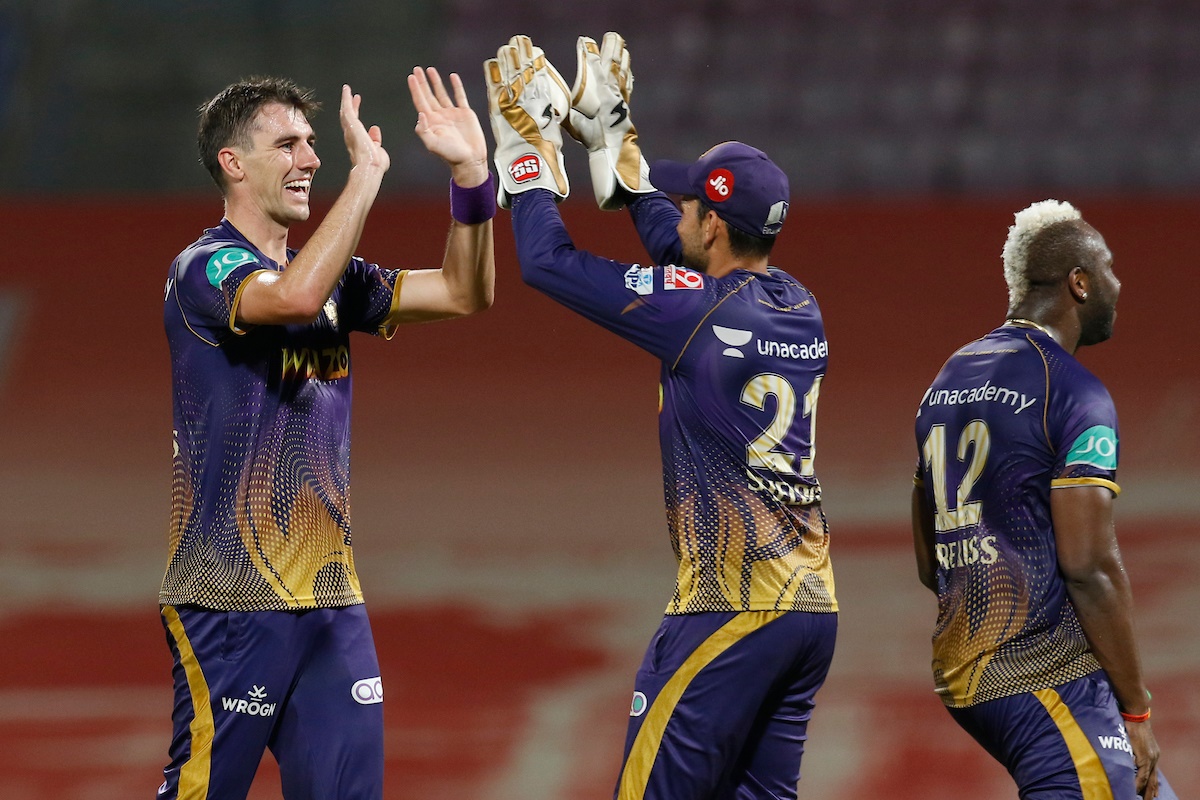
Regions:
<svg viewBox="0 0 1200 800"><path fill-rule="evenodd" d="M1133 631L1133 593L1112 524L1112 492L1103 486L1052 489L1050 515L1058 569L1092 652L1112 681L1121 710L1145 714L1150 696ZM1138 793L1153 798L1159 751L1150 721L1127 722L1126 729L1138 764Z"/></svg>

